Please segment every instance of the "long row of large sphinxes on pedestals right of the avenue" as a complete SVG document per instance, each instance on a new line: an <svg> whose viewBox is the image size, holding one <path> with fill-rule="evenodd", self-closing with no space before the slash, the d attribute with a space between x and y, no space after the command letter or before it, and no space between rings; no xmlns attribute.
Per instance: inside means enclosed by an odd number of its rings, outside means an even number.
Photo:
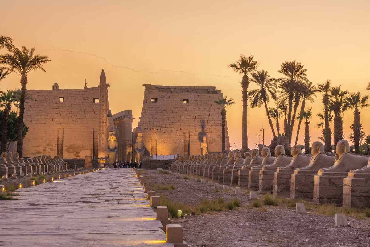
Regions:
<svg viewBox="0 0 370 247"><path fill-rule="evenodd" d="M246 152L245 158L240 151L178 157L171 170L274 196L370 207L370 159L351 153L348 141L337 143L335 157L326 155L319 141L312 144L312 156L302 154L299 146L291 153L287 156L278 145L275 157L268 147L261 154L256 148Z"/></svg>

